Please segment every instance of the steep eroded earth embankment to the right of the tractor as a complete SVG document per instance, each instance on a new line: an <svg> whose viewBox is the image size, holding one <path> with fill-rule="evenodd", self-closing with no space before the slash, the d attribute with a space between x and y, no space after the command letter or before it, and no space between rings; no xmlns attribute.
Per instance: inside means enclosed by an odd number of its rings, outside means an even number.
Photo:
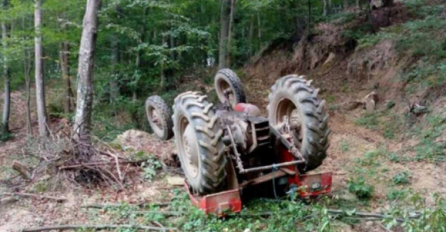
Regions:
<svg viewBox="0 0 446 232"><path fill-rule="evenodd" d="M362 185L374 187L375 209L410 189L430 203L433 192L446 196L446 8L428 2L376 9L373 20L346 13L311 35L276 41L244 68L248 98L261 106L265 90L287 74L321 88L332 128L321 168L335 173L341 198ZM370 93L376 107L366 110Z"/></svg>

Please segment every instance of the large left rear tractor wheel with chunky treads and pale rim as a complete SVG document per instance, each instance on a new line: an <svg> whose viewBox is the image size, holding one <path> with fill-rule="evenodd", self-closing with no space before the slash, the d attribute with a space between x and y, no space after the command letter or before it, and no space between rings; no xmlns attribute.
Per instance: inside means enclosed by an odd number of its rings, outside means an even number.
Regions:
<svg viewBox="0 0 446 232"><path fill-rule="evenodd" d="M179 95L172 116L181 167L189 185L199 194L222 190L226 182L223 130L206 98L197 92Z"/></svg>

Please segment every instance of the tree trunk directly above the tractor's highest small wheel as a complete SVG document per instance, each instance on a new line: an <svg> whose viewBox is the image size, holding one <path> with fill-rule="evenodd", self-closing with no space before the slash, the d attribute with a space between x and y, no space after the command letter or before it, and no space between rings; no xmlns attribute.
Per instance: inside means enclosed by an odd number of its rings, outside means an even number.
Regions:
<svg viewBox="0 0 446 232"><path fill-rule="evenodd" d="M218 68L227 68L227 54L228 54L228 33L229 33L229 14L230 14L230 1L221 0L220 10L220 44L218 54Z"/></svg>

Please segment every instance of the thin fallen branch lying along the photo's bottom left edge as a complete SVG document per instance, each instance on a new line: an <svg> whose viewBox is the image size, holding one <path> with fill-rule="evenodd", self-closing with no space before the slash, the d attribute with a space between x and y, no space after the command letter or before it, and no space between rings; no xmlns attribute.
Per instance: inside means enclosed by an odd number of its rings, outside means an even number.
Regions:
<svg viewBox="0 0 446 232"><path fill-rule="evenodd" d="M58 225L58 226L42 226L34 228L22 229L22 232L39 232L47 230L79 230L79 229L95 229L95 230L107 230L107 229L137 229L148 231L178 231L176 228L159 228L154 226L140 226L140 225Z"/></svg>

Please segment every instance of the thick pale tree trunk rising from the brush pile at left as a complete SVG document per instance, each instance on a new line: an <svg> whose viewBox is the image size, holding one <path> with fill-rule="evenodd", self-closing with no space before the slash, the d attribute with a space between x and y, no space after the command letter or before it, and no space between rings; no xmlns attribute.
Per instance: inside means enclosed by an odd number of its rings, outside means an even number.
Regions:
<svg viewBox="0 0 446 232"><path fill-rule="evenodd" d="M83 21L79 48L79 70L77 86L74 138L90 143L91 113L93 107L93 69L98 28L98 9L101 0L88 0Z"/></svg>

